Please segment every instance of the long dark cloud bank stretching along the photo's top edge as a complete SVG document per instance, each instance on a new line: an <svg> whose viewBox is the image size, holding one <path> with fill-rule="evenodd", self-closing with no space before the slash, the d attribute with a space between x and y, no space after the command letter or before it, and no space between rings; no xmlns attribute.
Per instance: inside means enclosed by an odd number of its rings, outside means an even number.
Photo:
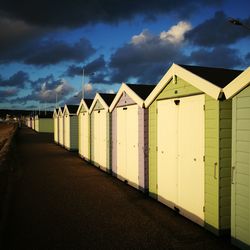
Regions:
<svg viewBox="0 0 250 250"><path fill-rule="evenodd" d="M129 20L135 15L149 19L159 14L177 13L190 15L204 6L215 6L223 0L84 0L84 1L18 1L1 3L0 11L6 16L24 20L27 23L49 27L73 27L89 23L116 23Z"/></svg>

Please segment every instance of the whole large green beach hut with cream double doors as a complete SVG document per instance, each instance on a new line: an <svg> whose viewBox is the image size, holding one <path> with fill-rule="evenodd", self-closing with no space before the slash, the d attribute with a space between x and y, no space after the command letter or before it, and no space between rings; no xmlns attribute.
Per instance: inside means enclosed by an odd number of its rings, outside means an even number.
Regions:
<svg viewBox="0 0 250 250"><path fill-rule="evenodd" d="M241 71L173 64L145 101L149 193L210 231L230 228L231 101Z"/></svg>

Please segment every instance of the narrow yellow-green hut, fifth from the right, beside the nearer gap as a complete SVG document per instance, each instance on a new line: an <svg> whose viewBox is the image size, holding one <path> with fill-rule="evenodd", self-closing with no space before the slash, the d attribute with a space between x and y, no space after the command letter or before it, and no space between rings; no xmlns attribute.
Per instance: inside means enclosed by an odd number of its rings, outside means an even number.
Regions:
<svg viewBox="0 0 250 250"><path fill-rule="evenodd" d="M77 110L78 116L78 152L80 157L90 160L90 115L93 99L82 99Z"/></svg>

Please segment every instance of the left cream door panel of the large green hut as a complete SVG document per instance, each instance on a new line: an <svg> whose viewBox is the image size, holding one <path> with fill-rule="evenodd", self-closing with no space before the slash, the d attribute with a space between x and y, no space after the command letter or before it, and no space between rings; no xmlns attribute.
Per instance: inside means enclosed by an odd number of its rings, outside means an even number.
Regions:
<svg viewBox="0 0 250 250"><path fill-rule="evenodd" d="M158 102L158 199L173 207L177 201L178 106L174 100Z"/></svg>

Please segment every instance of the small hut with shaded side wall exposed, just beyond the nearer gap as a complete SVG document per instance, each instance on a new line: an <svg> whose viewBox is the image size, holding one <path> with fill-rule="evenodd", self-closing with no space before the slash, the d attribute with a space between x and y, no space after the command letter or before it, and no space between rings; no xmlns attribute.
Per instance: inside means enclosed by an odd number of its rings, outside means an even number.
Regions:
<svg viewBox="0 0 250 250"><path fill-rule="evenodd" d="M65 104L64 119L64 147L70 151L78 150L78 105Z"/></svg>

